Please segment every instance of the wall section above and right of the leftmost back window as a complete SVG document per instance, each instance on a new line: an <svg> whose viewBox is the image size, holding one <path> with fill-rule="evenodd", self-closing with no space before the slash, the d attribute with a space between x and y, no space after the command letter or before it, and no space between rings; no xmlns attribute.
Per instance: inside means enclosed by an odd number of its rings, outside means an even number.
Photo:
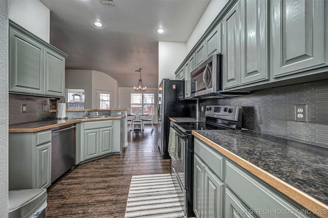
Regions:
<svg viewBox="0 0 328 218"><path fill-rule="evenodd" d="M89 70L66 70L65 71L66 89L84 89L85 104L84 108L92 108L92 71Z"/></svg>

